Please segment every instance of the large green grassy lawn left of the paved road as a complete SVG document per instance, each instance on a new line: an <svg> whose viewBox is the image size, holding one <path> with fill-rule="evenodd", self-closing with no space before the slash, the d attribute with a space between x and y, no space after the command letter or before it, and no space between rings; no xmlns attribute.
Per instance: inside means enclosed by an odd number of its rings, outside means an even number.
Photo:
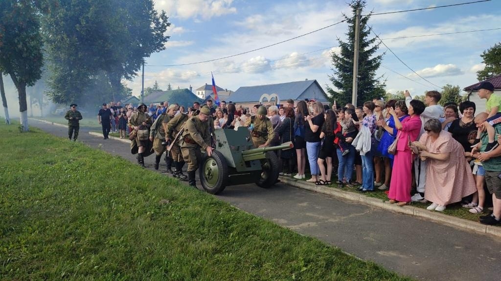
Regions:
<svg viewBox="0 0 501 281"><path fill-rule="evenodd" d="M410 280L120 157L17 125L0 120L0 279Z"/></svg>

